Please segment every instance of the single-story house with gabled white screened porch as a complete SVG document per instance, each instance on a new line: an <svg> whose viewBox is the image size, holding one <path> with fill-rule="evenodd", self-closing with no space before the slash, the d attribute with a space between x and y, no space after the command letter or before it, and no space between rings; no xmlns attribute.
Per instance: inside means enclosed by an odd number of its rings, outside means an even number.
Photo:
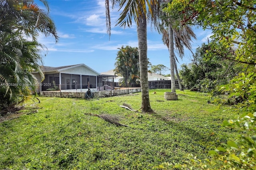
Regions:
<svg viewBox="0 0 256 170"><path fill-rule="evenodd" d="M114 89L115 75L102 75L85 64L66 65L61 67L41 67L44 73L42 81L39 73L33 73L40 83L40 91L58 90L67 92L85 92Z"/></svg>

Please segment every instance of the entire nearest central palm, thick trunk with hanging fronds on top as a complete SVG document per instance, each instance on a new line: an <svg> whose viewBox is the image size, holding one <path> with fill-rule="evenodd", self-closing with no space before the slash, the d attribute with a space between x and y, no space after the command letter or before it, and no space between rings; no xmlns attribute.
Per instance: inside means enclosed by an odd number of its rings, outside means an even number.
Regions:
<svg viewBox="0 0 256 170"><path fill-rule="evenodd" d="M140 83L142 90L142 111L152 111L148 92L148 58L147 58L147 20L150 18L156 23L159 12L159 0L111 0L112 6L119 3L119 10L122 9L120 18L116 25L130 27L132 18L137 25L139 62L140 62ZM106 4L107 32L111 34L109 0ZM124 8L124 9L123 9Z"/></svg>

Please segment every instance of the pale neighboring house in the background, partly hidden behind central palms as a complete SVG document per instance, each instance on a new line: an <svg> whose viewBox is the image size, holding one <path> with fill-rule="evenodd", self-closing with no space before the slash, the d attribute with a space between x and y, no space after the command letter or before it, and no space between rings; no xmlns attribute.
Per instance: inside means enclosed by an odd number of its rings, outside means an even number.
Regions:
<svg viewBox="0 0 256 170"><path fill-rule="evenodd" d="M101 74L106 74L106 75L116 75L114 73L114 69L103 72ZM119 80L122 79L123 77L116 75L116 77L114 77L114 83L115 86L118 86L119 84ZM156 73L148 73L148 81L157 81L157 80L169 80L170 77L164 77L163 75L159 75Z"/></svg>

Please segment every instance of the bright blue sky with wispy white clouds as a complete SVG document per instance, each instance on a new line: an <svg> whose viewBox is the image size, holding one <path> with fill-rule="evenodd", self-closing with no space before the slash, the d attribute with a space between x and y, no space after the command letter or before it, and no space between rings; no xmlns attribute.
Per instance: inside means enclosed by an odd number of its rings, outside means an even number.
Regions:
<svg viewBox="0 0 256 170"><path fill-rule="evenodd" d="M35 1L41 8L43 5ZM138 47L136 25L120 28L116 25L117 9L111 10L112 31L109 38L106 33L105 0L48 0L50 15L54 20L60 40L55 43L52 37L39 37L48 52L43 58L44 65L58 67L84 63L101 73L114 69L116 53L122 45ZM152 65L163 64L170 67L168 48L162 42L162 36L148 24L148 58ZM195 50L207 42L210 31L193 29L197 40L193 40ZM180 64L190 63L191 52L185 50ZM180 65L178 64L178 66ZM170 71L166 72L168 74Z"/></svg>

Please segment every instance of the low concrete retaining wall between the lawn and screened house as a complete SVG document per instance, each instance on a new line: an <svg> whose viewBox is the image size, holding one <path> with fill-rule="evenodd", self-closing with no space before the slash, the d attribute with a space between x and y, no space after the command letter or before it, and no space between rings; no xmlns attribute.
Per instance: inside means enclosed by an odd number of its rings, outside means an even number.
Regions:
<svg viewBox="0 0 256 170"><path fill-rule="evenodd" d="M125 95L129 93L140 92L140 88L136 89L122 89L122 90L108 90L108 91L94 91L94 97L111 97L118 95ZM71 97L71 98L85 98L86 92L60 92L60 91L41 91L40 96L44 97Z"/></svg>

